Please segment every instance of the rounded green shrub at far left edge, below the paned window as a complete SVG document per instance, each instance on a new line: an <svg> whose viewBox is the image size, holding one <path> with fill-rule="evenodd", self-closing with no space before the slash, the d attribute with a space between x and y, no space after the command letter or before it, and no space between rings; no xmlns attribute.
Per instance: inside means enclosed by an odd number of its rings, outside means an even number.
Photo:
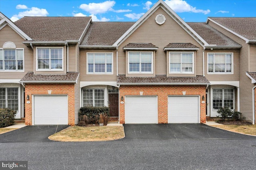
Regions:
<svg viewBox="0 0 256 170"><path fill-rule="evenodd" d="M0 127L7 127L14 124L16 111L8 108L0 109Z"/></svg>

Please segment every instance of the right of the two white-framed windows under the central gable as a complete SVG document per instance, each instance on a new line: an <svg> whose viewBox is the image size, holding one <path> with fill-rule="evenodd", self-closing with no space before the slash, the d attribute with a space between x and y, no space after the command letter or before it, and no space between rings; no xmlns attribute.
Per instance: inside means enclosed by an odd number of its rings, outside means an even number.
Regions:
<svg viewBox="0 0 256 170"><path fill-rule="evenodd" d="M169 53L170 73L193 73L193 53Z"/></svg>

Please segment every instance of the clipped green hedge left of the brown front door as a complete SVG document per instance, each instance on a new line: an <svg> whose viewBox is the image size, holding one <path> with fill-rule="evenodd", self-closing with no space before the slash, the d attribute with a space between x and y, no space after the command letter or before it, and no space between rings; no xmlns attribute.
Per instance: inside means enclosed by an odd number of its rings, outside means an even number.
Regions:
<svg viewBox="0 0 256 170"><path fill-rule="evenodd" d="M81 107L80 121L85 121L86 124L96 124L99 122L101 113L104 116L104 124L107 124L109 116L109 107ZM86 115L86 117L84 117L84 115Z"/></svg>

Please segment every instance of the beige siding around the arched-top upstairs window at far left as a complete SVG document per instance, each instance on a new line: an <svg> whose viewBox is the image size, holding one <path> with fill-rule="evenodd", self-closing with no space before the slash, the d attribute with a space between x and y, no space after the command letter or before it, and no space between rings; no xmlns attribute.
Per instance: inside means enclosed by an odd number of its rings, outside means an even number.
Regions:
<svg viewBox="0 0 256 170"><path fill-rule="evenodd" d="M24 71L0 71L1 79L21 79L27 72L33 72L33 50L22 42L25 41L9 25L0 30L0 48L4 43L11 41L16 48L24 49Z"/></svg>

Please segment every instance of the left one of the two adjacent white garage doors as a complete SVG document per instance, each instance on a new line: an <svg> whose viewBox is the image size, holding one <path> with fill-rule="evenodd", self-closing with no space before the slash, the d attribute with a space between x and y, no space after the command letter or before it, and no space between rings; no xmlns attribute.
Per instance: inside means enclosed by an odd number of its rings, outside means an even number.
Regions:
<svg viewBox="0 0 256 170"><path fill-rule="evenodd" d="M125 123L158 123L156 96L126 96Z"/></svg>

